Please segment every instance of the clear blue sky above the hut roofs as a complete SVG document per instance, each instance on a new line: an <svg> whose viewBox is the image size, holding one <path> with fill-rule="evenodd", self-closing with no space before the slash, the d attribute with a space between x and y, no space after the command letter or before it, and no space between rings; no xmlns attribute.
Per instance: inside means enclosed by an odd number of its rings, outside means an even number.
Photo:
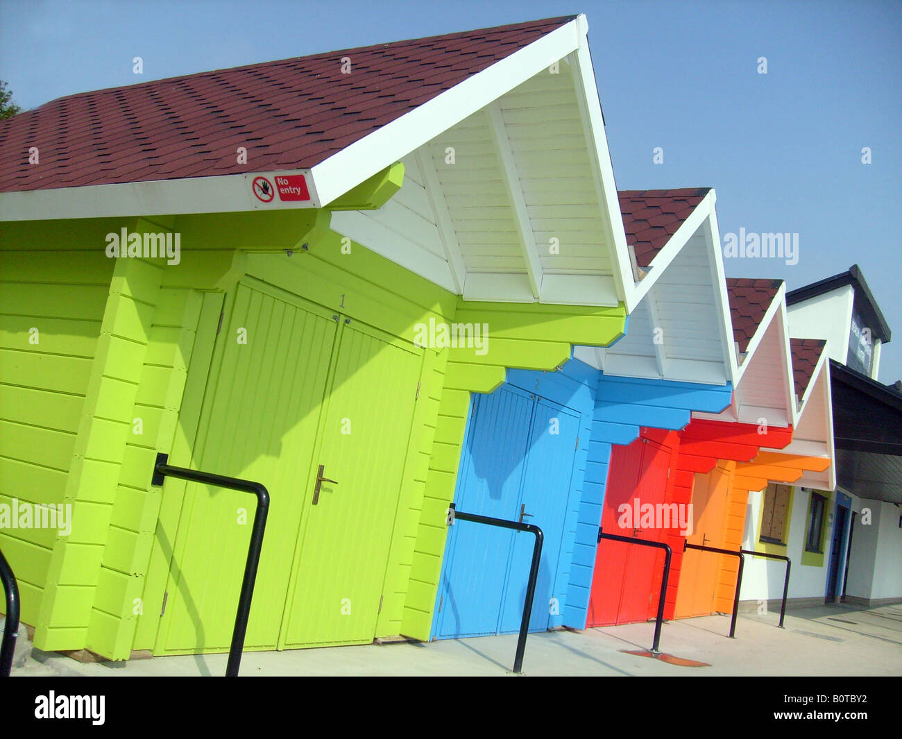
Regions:
<svg viewBox="0 0 902 739"><path fill-rule="evenodd" d="M899 332L879 379L902 378L899 2L0 0L0 79L31 108L135 81L574 13L588 16L618 187L712 186L722 236L798 234L796 264L727 259L732 276L780 278L792 290L859 264Z"/></svg>

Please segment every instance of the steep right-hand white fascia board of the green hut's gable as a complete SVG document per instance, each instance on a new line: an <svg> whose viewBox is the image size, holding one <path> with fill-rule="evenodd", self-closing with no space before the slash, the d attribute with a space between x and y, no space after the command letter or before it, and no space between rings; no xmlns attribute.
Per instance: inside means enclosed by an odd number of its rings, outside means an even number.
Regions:
<svg viewBox="0 0 902 739"><path fill-rule="evenodd" d="M589 163L593 171L598 205L602 209L605 236L612 248L614 283L617 286L617 295L623 300L629 314L639 305L640 299L634 294L635 282L630 265L630 250L626 243L626 231L623 229L620 201L617 199L617 183L614 180L611 152L604 133L602 104L598 99L598 85L595 82L592 55L589 51L589 22L584 14L580 14L575 23L578 27L577 46L571 58L571 66L574 69L576 98L589 144Z"/></svg>

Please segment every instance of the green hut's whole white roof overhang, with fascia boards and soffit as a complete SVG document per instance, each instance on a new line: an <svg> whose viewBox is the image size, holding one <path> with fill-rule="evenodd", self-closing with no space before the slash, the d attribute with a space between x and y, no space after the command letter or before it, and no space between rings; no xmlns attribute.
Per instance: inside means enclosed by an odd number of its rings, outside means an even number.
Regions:
<svg viewBox="0 0 902 739"><path fill-rule="evenodd" d="M328 209L364 180L414 157L420 164L432 165L422 169L431 170L423 177L428 180L428 198L434 205L431 226L440 246L432 251L437 259L416 252L405 256L403 248L391 243L391 234L358 227L364 221L357 211L336 213L335 230L355 239L359 236L373 251L415 272L426 272L428 279L466 300L598 306L623 302L629 310L638 302L638 290L631 278L587 32L585 16L579 15L306 170L0 193L0 220ZM543 72L545 79L530 87L530 80L542 78ZM536 105L518 107L518 95L524 94L534 98ZM558 102L562 105L553 105ZM548 109L564 111L572 120L543 117ZM484 229L483 254L479 254L478 244L475 249L461 244L461 216L454 205L448 205L450 193L459 184L455 178L468 176L465 167L443 171L434 166L436 156L444 156L442 143L447 134L460 133L468 125L483 130L471 140L474 146L458 152L457 162L473 165L469 174L477 172L476 182L479 173L485 175L485 168L493 171L506 199L497 206L501 210L493 213L501 212L502 220L512 226L511 234L495 238L492 217L487 215L493 206L483 203L483 212L478 212L480 193L470 193L472 208L463 216L468 218L464 231L472 235ZM567 129L564 135L562 128ZM531 149L530 141L535 143ZM546 178L545 184L554 183L558 189L568 178L575 182L575 176L568 175L577 163L573 161L575 152L585 163L580 187L586 210L573 217L563 215L571 200L560 201L560 192L558 200L554 199L555 193L543 190L543 183L537 180ZM570 194L566 188L564 191ZM555 208L559 217L554 212L549 217L549 209ZM564 222L572 225L581 217L584 232L567 231ZM388 226L390 232L399 227L401 236L410 236L401 221ZM567 242L571 236L583 241ZM571 247L574 254L582 251L571 263L558 267L546 258L549 238L557 238L564 253ZM511 251L505 250L506 246L514 246L517 254L504 256ZM503 258L495 265L480 261L481 256L498 254ZM581 262L589 266L582 268ZM424 263L429 263L428 269L421 269Z"/></svg>

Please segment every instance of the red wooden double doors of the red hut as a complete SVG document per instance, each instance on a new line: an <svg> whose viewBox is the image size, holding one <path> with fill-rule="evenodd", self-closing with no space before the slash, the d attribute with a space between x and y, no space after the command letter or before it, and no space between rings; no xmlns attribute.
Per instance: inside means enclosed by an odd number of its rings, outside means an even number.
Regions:
<svg viewBox="0 0 902 739"><path fill-rule="evenodd" d="M662 541L667 529L657 512L667 502L672 449L643 435L614 447L604 493L602 529L634 539ZM603 539L595 556L588 626L648 621L658 611L662 550Z"/></svg>

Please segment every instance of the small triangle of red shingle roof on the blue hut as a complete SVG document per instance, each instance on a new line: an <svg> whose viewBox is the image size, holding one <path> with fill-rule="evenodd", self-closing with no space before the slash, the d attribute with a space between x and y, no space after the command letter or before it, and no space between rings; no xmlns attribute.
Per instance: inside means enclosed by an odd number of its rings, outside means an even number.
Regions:
<svg viewBox="0 0 902 739"><path fill-rule="evenodd" d="M626 242L648 267L711 188L624 189L620 199Z"/></svg>

